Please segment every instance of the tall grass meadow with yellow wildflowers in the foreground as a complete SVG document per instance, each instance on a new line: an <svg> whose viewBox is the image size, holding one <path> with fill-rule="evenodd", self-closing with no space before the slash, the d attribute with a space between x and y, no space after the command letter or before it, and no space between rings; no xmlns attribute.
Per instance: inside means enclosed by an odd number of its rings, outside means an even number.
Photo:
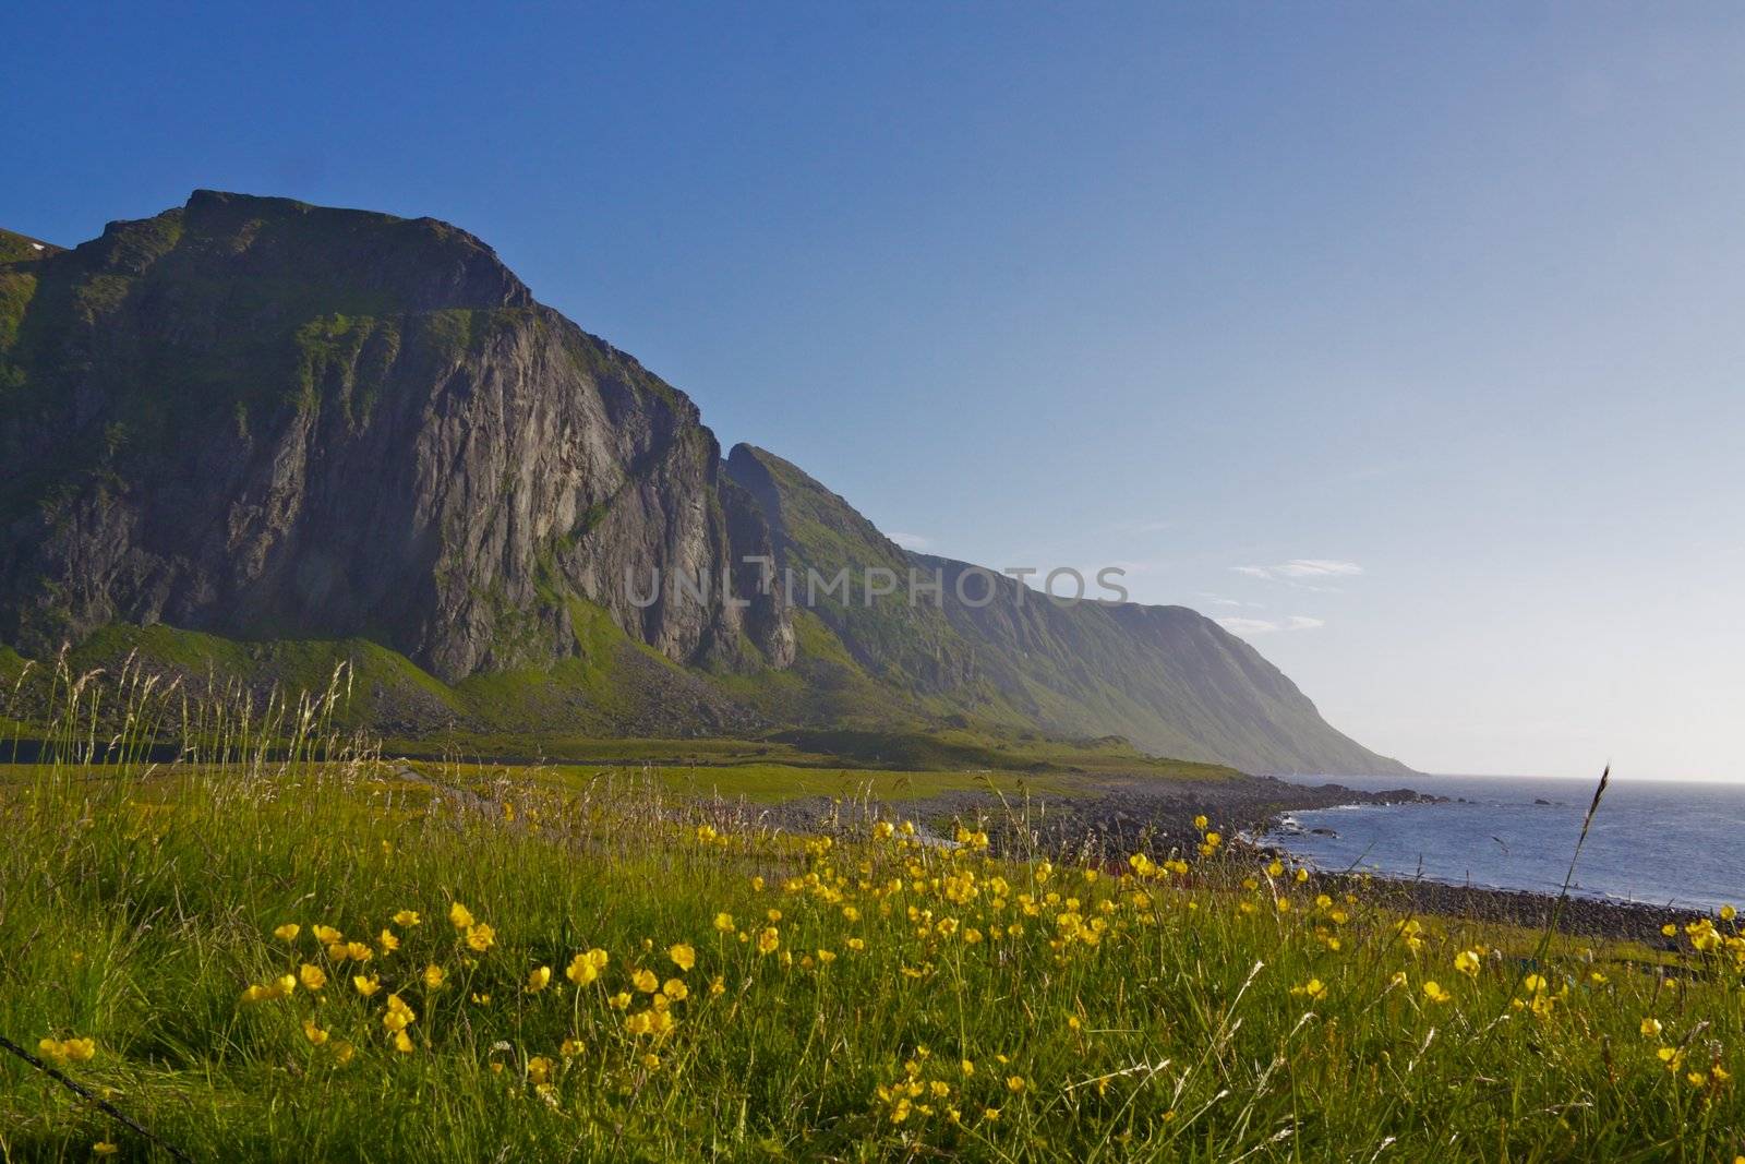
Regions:
<svg viewBox="0 0 1745 1164"><path fill-rule="evenodd" d="M872 789L796 834L658 773L384 763L342 688L58 686L0 782L0 1159L1745 1154L1731 911L1644 956L1216 820L1066 859Z"/></svg>

